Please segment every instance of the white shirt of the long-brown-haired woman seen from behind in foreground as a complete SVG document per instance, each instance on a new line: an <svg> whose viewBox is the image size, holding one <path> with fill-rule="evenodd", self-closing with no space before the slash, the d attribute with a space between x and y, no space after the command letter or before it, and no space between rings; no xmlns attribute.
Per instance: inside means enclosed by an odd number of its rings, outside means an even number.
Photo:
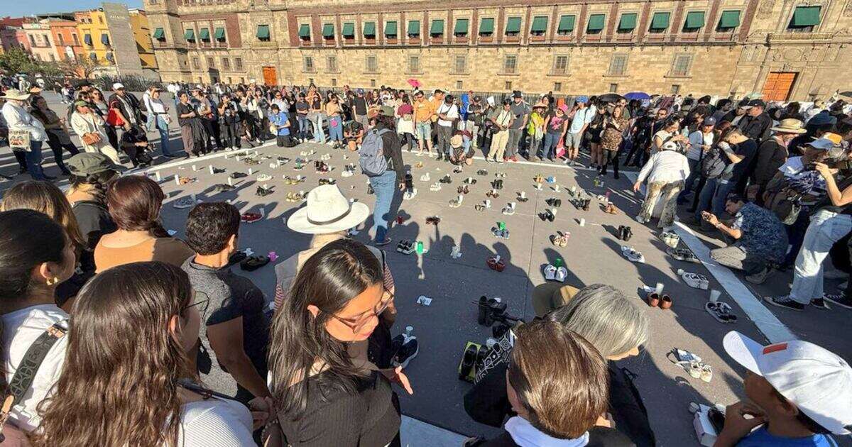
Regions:
<svg viewBox="0 0 852 447"><path fill-rule="evenodd" d="M181 447L254 447L251 414L235 400L210 398L183 404L178 432Z"/></svg>

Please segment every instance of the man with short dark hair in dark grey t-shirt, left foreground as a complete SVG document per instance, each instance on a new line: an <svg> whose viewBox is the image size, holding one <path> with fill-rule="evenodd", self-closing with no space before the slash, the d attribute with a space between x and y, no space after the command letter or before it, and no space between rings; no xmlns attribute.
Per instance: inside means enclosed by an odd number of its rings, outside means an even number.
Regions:
<svg viewBox="0 0 852 447"><path fill-rule="evenodd" d="M266 300L249 278L231 272L239 246L239 211L230 203L199 203L187 217L187 245L195 252L181 268L212 307L204 316L207 341L222 369L237 381L235 399L268 397L269 318Z"/></svg>

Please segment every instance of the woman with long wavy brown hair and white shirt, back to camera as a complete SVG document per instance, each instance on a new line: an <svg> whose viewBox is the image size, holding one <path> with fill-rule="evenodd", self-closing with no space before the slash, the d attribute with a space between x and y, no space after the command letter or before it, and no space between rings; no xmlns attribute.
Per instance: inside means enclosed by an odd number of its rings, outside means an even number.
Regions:
<svg viewBox="0 0 852 447"><path fill-rule="evenodd" d="M38 446L253 446L243 404L196 384L187 358L209 300L163 262L102 272L74 304Z"/></svg>

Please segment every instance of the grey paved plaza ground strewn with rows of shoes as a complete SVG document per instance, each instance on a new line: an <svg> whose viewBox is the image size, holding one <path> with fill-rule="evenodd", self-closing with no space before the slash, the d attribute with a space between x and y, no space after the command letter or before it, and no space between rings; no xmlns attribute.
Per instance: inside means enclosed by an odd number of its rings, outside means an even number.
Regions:
<svg viewBox="0 0 852 447"><path fill-rule="evenodd" d="M52 96L52 95L51 95ZM54 98L49 98L53 100ZM64 107L52 103L55 110L64 113ZM60 108L61 107L61 108ZM154 138L154 135L149 135ZM76 137L75 137L76 138ZM173 144L180 145L180 138L173 132ZM351 177L342 177L342 167L346 163L356 163L357 155L351 152L332 150L329 146L306 143L295 148L279 148L266 144L256 149L260 156L268 156L260 165L248 166L238 162L236 152L217 152L204 158L163 163L147 169L148 175L159 173L161 186L169 196L164 204L162 217L166 228L183 234L188 209L175 209L172 203L179 198L194 194L203 201L230 200L242 212L263 210L265 219L252 224L244 224L240 234L242 248L250 247L256 253L267 254L275 251L281 260L298 250L307 247L306 235L291 232L286 228L287 219L301 203L289 203L285 200L287 192L307 192L317 186L320 178L337 181L343 194L367 203L371 208L375 196L366 192L366 177L360 171ZM286 163L279 168L270 168L269 163L283 156L295 160L300 152L314 152L308 155L311 160L302 171L293 169L294 163ZM253 151L252 151L253 152ZM49 153L45 152L45 155ZM331 154L329 163L334 169L327 174L317 174L313 169L313 160L324 154ZM348 159L343 157L347 156ZM553 163L511 163L486 164L476 159L473 166L466 167L461 174L452 174L452 166L435 161L434 158L416 157L404 152L406 165L412 169L417 196L412 200L401 201L399 214L403 223L394 225L389 236L394 243L387 246L388 262L396 282L396 306L398 318L392 332L395 334L412 326L413 335L417 335L420 352L406 369L412 381L414 395L400 394L402 411L412 420L406 420L404 441L409 445L438 445L458 443L458 436L442 432L446 441L439 438L424 439L429 426L442 427L453 433L463 435L492 435L497 429L482 426L471 421L463 410L463 393L469 384L459 381L456 370L466 341L484 343L491 336L490 328L476 323L476 307L472 304L481 295L500 296L509 305L509 313L525 318L533 318L530 302L533 288L544 283L543 266L564 260L568 269L566 283L576 286L588 284L610 284L635 297L636 304L643 312L648 312L651 320L651 341L636 358L620 361L621 366L636 374L638 387L644 403L648 407L651 426L661 445L697 445L692 426L692 415L688 412L690 402L703 404L730 404L742 396L742 377L745 370L734 364L722 350L722 336L728 330L740 330L758 341L780 341L784 337L797 337L813 341L840 356L852 359L852 343L844 328L852 312L843 308L830 311L809 309L805 312L792 312L778 308L768 309L759 297L763 295L782 295L789 289L791 272L779 272L761 286L746 283L740 273L730 272L709 259L707 250L721 246L717 235L705 235L692 232L687 226L678 223L676 231L681 235L682 245L688 245L704 262L703 265L676 261L665 254L665 244L659 238L659 230L653 225L639 225L633 219L638 213L642 197L630 191L635 174L623 174L618 181L612 175L607 176L602 187L593 184L595 171L590 169L568 168ZM423 168L415 168L423 162ZM162 163L162 160L158 160ZM49 166L51 175L58 169ZM193 171L193 165L197 171ZM226 173L210 175L208 166L227 169ZM234 181L236 188L232 192L215 194L216 183L226 183L227 176L234 171L254 174L268 174L272 181L264 182L274 187L274 193L265 198L255 195L257 182L254 175ZM488 175L477 175L478 169L486 169ZM0 174L13 175L17 172L14 158L6 151L0 157ZM494 179L496 172L504 172L504 189L500 197L492 199L492 208L476 211L474 205L486 199L490 189L488 182ZM430 181L420 181L421 175L429 173ZM307 180L299 185L285 185L285 175L306 175ZM443 185L440 192L430 192L429 185L446 174L452 176L452 184ZM559 192L553 191L554 185L545 184L542 190L535 189L533 177L553 175ZM174 175L195 177L198 181L176 186ZM460 208L450 208L448 202L455 198L456 188L463 185L463 179L471 176L477 180L469 186L469 194ZM19 175L15 181L25 180ZM12 182L0 184L3 189ZM58 183L66 185L65 181ZM589 211L575 209L569 203L567 191L572 186L597 194L610 193L613 203L619 208L616 215L604 213L599 202L593 198ZM508 202L517 202L515 195L524 191L530 198L527 203L517 203L515 215L503 215L500 210ZM545 200L561 198L562 205L554 222L543 221L538 213L550 208ZM426 217L440 215L437 226L426 224ZM579 221L585 225L580 226ZM504 221L511 232L509 239L495 238L491 228L498 221ZM655 225L656 221L653 221ZM365 228L372 225L371 219ZM645 256L644 264L628 261L621 255L620 246L624 244L615 237L618 226L631 226L634 236L630 246ZM367 231L354 238L369 242ZM556 232L571 233L566 248L558 248L550 243L550 237ZM401 255L394 249L400 239L423 241L427 250L422 257ZM460 245L462 257L452 259L453 245ZM506 261L504 272L492 271L486 266L486 259L500 255ZM238 268L239 267L235 267ZM705 312L705 302L709 290L689 288L677 275L678 269L699 272L710 278L710 289L722 292L721 301L728 302L734 313L740 317L736 324L721 324ZM240 272L251 278L272 299L274 287L273 265L262 267L256 272ZM826 290L834 290L841 281L828 281ZM665 293L672 296L674 306L671 311L648 307L642 301L642 285L664 284ZM432 298L430 306L417 304L417 297L426 295ZM710 383L690 377L684 370L672 364L666 354L672 348L679 347L695 352L711 364L714 376ZM233 380L222 371L203 378L211 387L226 393L233 392ZM418 425L420 424L420 425ZM407 427L407 428L406 428ZM425 427L425 428L424 428ZM426 430L423 432L423 430ZM406 433L409 436L405 436ZM849 439L844 439L844 445ZM455 444L458 445L458 444Z"/></svg>

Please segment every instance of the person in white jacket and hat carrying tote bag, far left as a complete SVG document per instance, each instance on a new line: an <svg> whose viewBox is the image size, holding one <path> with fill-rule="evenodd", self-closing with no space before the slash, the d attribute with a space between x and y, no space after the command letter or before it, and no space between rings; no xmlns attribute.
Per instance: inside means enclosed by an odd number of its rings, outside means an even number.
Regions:
<svg viewBox="0 0 852 447"><path fill-rule="evenodd" d="M55 177L44 175L42 170L42 144L48 139L44 124L26 111L26 100L30 94L20 90L6 90L3 104L3 119L9 126L9 146L12 150L24 152L26 169L33 180L54 180ZM18 138L14 138L17 136ZM14 146L14 140L20 142L19 148Z"/></svg>

